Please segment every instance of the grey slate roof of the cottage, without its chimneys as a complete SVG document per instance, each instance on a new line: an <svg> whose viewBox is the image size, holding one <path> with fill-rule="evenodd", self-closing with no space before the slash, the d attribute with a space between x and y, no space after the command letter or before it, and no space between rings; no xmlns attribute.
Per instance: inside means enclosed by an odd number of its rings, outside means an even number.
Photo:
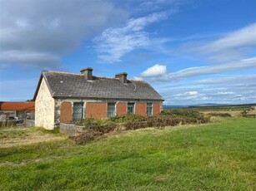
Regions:
<svg viewBox="0 0 256 191"><path fill-rule="evenodd" d="M86 81L82 74L58 71L43 71L41 77L47 81L53 98L163 100L146 81L123 84L118 78L99 76L93 76L93 81ZM36 96L37 91L34 99Z"/></svg>

